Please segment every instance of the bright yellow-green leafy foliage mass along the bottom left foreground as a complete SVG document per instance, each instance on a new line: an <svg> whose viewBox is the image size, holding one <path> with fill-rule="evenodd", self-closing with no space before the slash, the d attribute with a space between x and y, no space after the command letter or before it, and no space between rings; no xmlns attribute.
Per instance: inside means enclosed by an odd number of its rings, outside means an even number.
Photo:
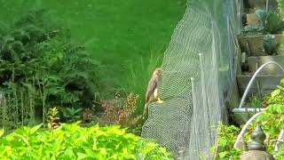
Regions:
<svg viewBox="0 0 284 160"><path fill-rule="evenodd" d="M172 159L165 148L119 126L82 128L61 124L51 131L23 127L0 138L1 159ZM3 135L0 132L0 136Z"/></svg>

